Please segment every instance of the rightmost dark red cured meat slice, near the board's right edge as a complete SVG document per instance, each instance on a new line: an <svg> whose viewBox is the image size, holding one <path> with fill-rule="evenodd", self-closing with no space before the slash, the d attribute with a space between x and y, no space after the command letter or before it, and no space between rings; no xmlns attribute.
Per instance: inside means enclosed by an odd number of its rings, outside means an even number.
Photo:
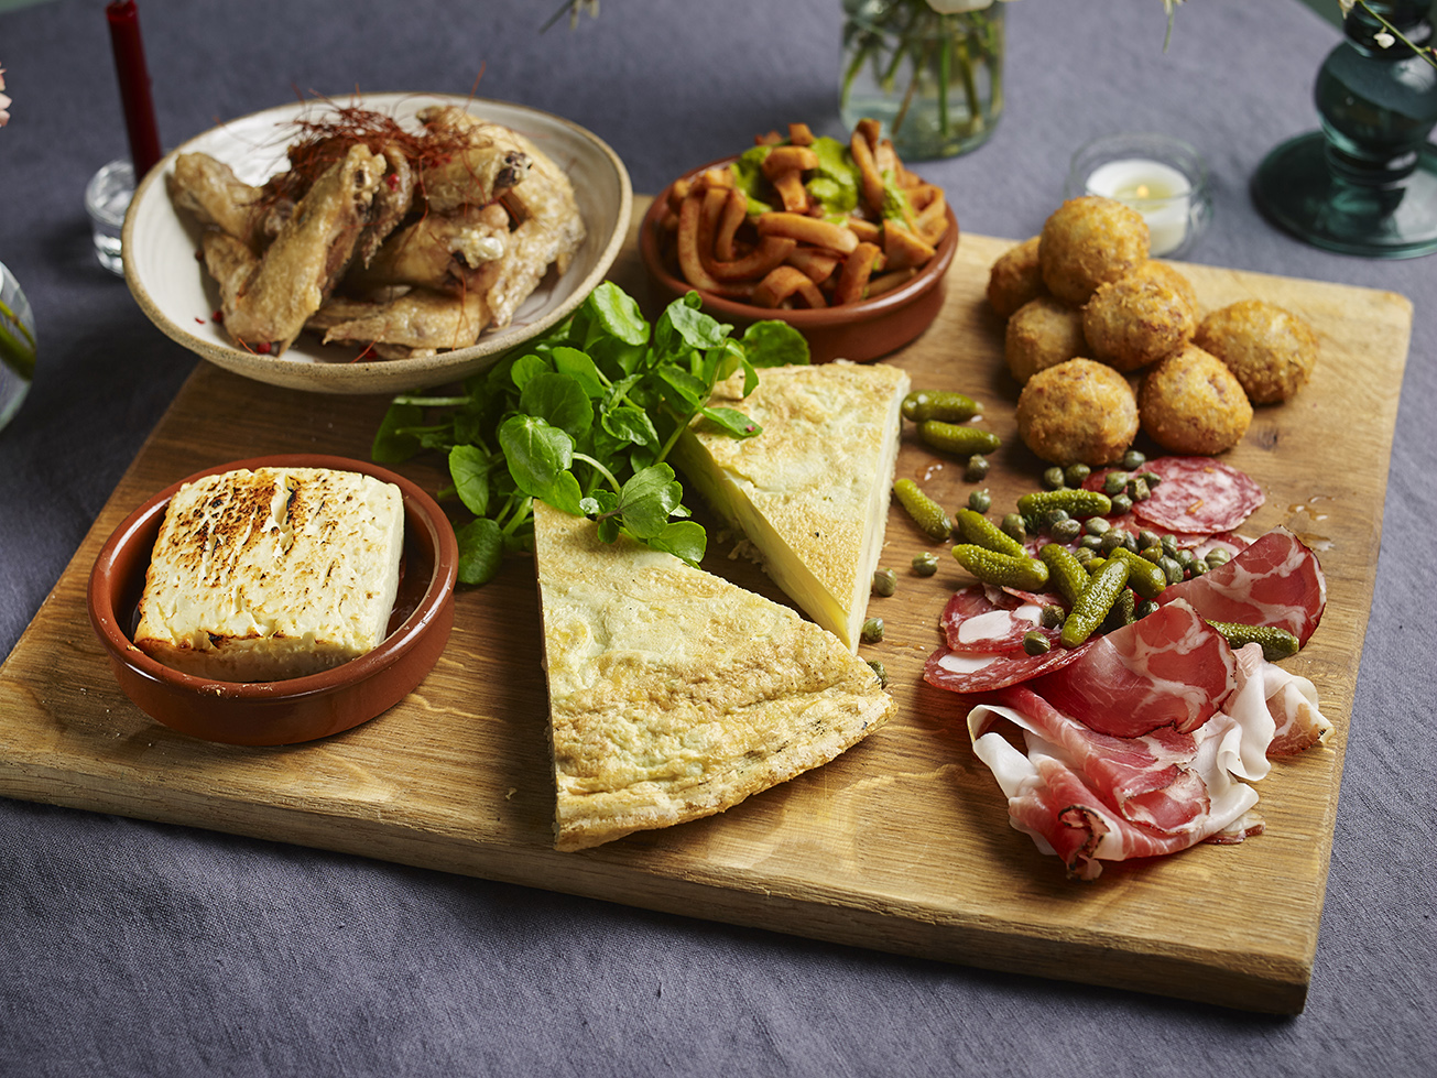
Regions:
<svg viewBox="0 0 1437 1078"><path fill-rule="evenodd" d="M1184 601L1209 621L1283 628L1306 644L1328 604L1316 555L1286 528L1275 528L1230 562L1158 595Z"/></svg>

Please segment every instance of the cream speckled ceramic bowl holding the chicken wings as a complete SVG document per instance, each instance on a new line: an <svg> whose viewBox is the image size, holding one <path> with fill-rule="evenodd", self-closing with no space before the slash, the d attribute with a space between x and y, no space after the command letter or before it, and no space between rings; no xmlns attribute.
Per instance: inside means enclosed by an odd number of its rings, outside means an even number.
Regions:
<svg viewBox="0 0 1437 1078"><path fill-rule="evenodd" d="M588 237L562 277L549 276L520 305L513 322L487 331L470 348L414 359L355 361L355 349L320 345L302 333L283 355L259 355L237 348L216 325L218 289L195 262L200 231L188 214L175 210L167 190L178 154L205 152L224 161L251 184L262 184L287 167L285 151L295 121L322 115L323 101L296 102L223 124L165 155L141 181L125 216L121 237L125 280L141 309L164 333L227 371L292 390L336 394L394 394L453 382L481 371L503 352L540 333L583 302L618 256L628 236L634 193L618 155L578 124L547 112L438 93L371 93L351 103L387 112L414 126L414 115L430 105L458 105L473 115L527 135L573 181Z"/></svg>

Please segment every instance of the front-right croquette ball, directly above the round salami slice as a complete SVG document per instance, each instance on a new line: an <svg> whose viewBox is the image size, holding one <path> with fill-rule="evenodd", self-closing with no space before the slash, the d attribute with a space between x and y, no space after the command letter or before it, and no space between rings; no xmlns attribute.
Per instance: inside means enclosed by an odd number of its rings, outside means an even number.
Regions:
<svg viewBox="0 0 1437 1078"><path fill-rule="evenodd" d="M1223 361L1197 345L1160 359L1138 388L1148 437L1171 453L1230 450L1253 420L1247 394Z"/></svg>

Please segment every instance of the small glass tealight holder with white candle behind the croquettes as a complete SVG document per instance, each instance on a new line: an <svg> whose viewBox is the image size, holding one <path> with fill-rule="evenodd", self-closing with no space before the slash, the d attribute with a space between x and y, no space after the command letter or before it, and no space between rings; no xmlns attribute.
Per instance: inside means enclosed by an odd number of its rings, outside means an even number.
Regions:
<svg viewBox="0 0 1437 1078"><path fill-rule="evenodd" d="M1063 195L1086 194L1117 198L1142 214L1154 257L1190 252L1213 216L1207 165L1197 149L1170 135L1106 135L1085 145L1073 154Z"/></svg>

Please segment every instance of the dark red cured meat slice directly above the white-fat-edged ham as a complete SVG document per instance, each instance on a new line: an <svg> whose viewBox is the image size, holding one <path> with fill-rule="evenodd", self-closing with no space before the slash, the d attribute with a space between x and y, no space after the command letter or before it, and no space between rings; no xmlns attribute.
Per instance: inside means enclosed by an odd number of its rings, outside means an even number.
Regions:
<svg viewBox="0 0 1437 1078"><path fill-rule="evenodd" d="M1033 688L1099 733L1190 733L1227 699L1236 668L1227 641L1186 602L1173 602L1089 641L1079 660Z"/></svg>

